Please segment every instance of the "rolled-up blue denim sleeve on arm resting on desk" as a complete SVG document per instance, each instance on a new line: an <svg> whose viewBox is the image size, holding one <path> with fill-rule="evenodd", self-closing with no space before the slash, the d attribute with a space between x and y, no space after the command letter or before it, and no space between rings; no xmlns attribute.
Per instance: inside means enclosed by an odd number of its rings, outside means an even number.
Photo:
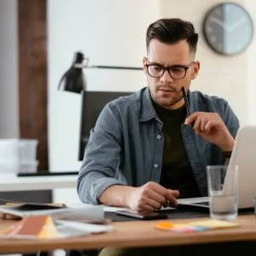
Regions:
<svg viewBox="0 0 256 256"><path fill-rule="evenodd" d="M79 171L78 195L84 203L98 204L105 189L125 184L118 176L123 143L123 127L119 112L108 103L90 131L89 142Z"/></svg>

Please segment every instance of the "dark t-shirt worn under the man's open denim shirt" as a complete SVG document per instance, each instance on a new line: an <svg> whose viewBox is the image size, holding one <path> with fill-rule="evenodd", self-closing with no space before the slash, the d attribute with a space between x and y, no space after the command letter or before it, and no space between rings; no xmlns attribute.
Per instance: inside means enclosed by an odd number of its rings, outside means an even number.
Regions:
<svg viewBox="0 0 256 256"><path fill-rule="evenodd" d="M154 109L164 123L164 152L160 184L168 189L177 189L180 198L200 196L195 177L183 144L181 124L186 118L186 108L162 108L154 101Z"/></svg>

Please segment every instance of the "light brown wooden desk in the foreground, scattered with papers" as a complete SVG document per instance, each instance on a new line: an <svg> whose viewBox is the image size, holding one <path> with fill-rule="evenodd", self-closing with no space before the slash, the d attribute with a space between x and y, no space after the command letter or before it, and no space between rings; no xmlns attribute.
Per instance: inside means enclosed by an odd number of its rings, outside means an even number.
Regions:
<svg viewBox="0 0 256 256"><path fill-rule="evenodd" d="M193 218L200 220L202 218ZM191 219L190 219L191 220ZM173 222L188 222L189 219L175 219ZM0 220L0 229L11 224L10 220ZM0 253L34 253L55 249L97 249L102 247L157 247L186 244L200 244L218 241L256 241L256 218L254 215L241 216L241 227L208 230L197 233L174 233L155 230L154 221L132 221L113 223L116 230L100 235L73 239L49 241L0 240Z"/></svg>

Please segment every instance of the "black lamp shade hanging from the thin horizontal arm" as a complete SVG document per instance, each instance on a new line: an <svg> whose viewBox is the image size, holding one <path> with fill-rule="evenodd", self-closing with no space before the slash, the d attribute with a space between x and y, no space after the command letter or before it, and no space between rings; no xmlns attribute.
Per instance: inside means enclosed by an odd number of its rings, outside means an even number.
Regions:
<svg viewBox="0 0 256 256"><path fill-rule="evenodd" d="M84 55L76 52L73 57L72 66L61 77L58 90L67 90L75 93L81 93L86 90L86 83L82 67L76 64L82 64Z"/></svg>

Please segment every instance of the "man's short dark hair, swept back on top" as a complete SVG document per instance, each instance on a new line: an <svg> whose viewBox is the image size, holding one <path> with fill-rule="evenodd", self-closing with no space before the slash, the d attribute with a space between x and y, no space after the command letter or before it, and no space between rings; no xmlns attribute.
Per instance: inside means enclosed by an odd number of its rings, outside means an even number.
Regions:
<svg viewBox="0 0 256 256"><path fill-rule="evenodd" d="M157 39L164 44L176 44L180 40L186 40L190 51L195 53L198 33L195 32L195 27L189 21L178 18L160 19L148 26L147 49L152 39Z"/></svg>

